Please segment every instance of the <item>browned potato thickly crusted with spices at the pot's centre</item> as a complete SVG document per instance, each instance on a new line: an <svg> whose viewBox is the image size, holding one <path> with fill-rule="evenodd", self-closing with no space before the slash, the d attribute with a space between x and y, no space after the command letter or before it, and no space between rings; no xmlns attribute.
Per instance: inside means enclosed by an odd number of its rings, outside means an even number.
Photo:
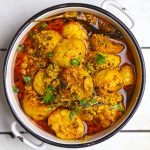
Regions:
<svg viewBox="0 0 150 150"><path fill-rule="evenodd" d="M83 69L68 68L62 73L62 88L65 96L70 100L89 99L94 92L91 76Z"/></svg>

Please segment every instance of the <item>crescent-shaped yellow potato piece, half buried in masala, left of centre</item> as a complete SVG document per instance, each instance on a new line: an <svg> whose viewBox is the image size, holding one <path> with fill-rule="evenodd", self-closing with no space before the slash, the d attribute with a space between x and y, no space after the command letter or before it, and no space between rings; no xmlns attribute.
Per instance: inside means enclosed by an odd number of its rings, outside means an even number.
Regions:
<svg viewBox="0 0 150 150"><path fill-rule="evenodd" d="M40 69L38 73L35 75L33 80L33 87L35 91L40 95L44 95L45 93L44 78L45 78L45 70Z"/></svg>

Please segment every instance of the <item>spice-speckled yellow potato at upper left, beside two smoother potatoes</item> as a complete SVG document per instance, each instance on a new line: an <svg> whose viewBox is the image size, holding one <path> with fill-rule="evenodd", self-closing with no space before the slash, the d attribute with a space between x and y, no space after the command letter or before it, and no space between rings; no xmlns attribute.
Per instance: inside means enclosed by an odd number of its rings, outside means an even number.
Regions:
<svg viewBox="0 0 150 150"><path fill-rule="evenodd" d="M42 30L35 35L35 46L44 53L52 52L55 46L62 40L62 36L55 30Z"/></svg>

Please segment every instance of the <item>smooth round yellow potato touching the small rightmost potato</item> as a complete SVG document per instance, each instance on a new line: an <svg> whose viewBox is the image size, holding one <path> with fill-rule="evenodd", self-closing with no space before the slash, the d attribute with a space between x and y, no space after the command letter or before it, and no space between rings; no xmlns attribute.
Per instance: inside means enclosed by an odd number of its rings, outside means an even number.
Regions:
<svg viewBox="0 0 150 150"><path fill-rule="evenodd" d="M95 74L93 81L99 94L115 92L123 86L123 78L117 70L106 69L99 71Z"/></svg>

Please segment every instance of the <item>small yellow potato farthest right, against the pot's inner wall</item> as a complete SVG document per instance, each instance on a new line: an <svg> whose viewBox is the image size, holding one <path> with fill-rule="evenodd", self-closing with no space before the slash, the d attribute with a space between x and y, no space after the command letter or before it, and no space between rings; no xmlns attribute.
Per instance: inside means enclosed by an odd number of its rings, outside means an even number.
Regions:
<svg viewBox="0 0 150 150"><path fill-rule="evenodd" d="M133 85L135 81L134 69L130 65L124 65L120 69L120 73L123 77L124 86Z"/></svg>

